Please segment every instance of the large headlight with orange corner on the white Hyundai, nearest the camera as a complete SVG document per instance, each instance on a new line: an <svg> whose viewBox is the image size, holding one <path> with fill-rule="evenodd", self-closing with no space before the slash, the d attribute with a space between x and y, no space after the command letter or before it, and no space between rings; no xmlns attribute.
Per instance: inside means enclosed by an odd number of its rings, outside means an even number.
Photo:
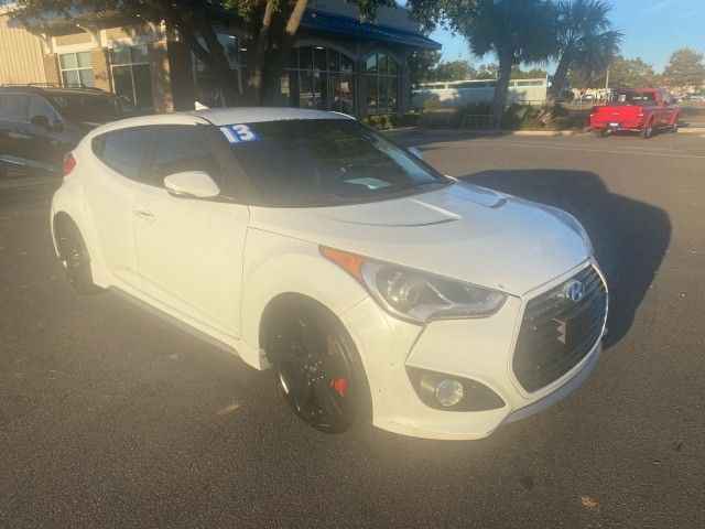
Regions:
<svg viewBox="0 0 705 529"><path fill-rule="evenodd" d="M414 323L454 317L486 317L507 294L455 279L355 253L321 247L321 253L350 272L390 314Z"/></svg>

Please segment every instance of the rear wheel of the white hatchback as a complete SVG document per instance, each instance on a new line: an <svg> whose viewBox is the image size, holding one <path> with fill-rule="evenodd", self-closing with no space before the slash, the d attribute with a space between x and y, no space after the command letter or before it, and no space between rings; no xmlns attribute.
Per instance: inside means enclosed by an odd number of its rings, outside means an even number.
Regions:
<svg viewBox="0 0 705 529"><path fill-rule="evenodd" d="M102 289L93 282L90 257L76 224L68 217L59 217L55 220L54 231L68 284L79 294L100 292Z"/></svg>

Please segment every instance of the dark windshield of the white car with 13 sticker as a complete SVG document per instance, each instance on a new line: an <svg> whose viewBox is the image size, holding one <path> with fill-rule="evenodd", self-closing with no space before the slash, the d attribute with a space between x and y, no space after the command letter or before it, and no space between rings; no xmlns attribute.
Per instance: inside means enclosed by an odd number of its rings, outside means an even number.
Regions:
<svg viewBox="0 0 705 529"><path fill-rule="evenodd" d="M419 158L351 119L220 127L267 205L373 202L448 185Z"/></svg>

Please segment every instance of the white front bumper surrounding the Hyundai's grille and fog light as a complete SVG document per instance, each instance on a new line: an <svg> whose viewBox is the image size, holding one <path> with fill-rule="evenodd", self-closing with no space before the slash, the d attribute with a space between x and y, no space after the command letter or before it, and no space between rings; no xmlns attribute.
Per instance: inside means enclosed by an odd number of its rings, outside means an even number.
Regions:
<svg viewBox="0 0 705 529"><path fill-rule="evenodd" d="M441 320L422 327L388 315L371 299L344 313L340 319L358 346L368 376L375 425L419 438L480 439L503 422L523 419L565 398L595 369L601 336L571 370L533 392L527 392L513 374L513 350L528 301L588 264L597 268L589 261L521 298L510 296L487 319ZM506 404L469 412L430 408L412 387L408 367L477 380Z"/></svg>

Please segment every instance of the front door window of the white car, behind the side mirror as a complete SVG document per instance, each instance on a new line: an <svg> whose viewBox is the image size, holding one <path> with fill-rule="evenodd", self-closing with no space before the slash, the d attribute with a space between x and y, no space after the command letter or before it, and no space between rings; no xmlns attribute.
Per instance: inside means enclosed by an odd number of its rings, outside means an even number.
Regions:
<svg viewBox="0 0 705 529"><path fill-rule="evenodd" d="M150 176L162 186L164 176L182 171L205 171L220 182L220 169L208 143L195 126L173 126L159 129Z"/></svg>

